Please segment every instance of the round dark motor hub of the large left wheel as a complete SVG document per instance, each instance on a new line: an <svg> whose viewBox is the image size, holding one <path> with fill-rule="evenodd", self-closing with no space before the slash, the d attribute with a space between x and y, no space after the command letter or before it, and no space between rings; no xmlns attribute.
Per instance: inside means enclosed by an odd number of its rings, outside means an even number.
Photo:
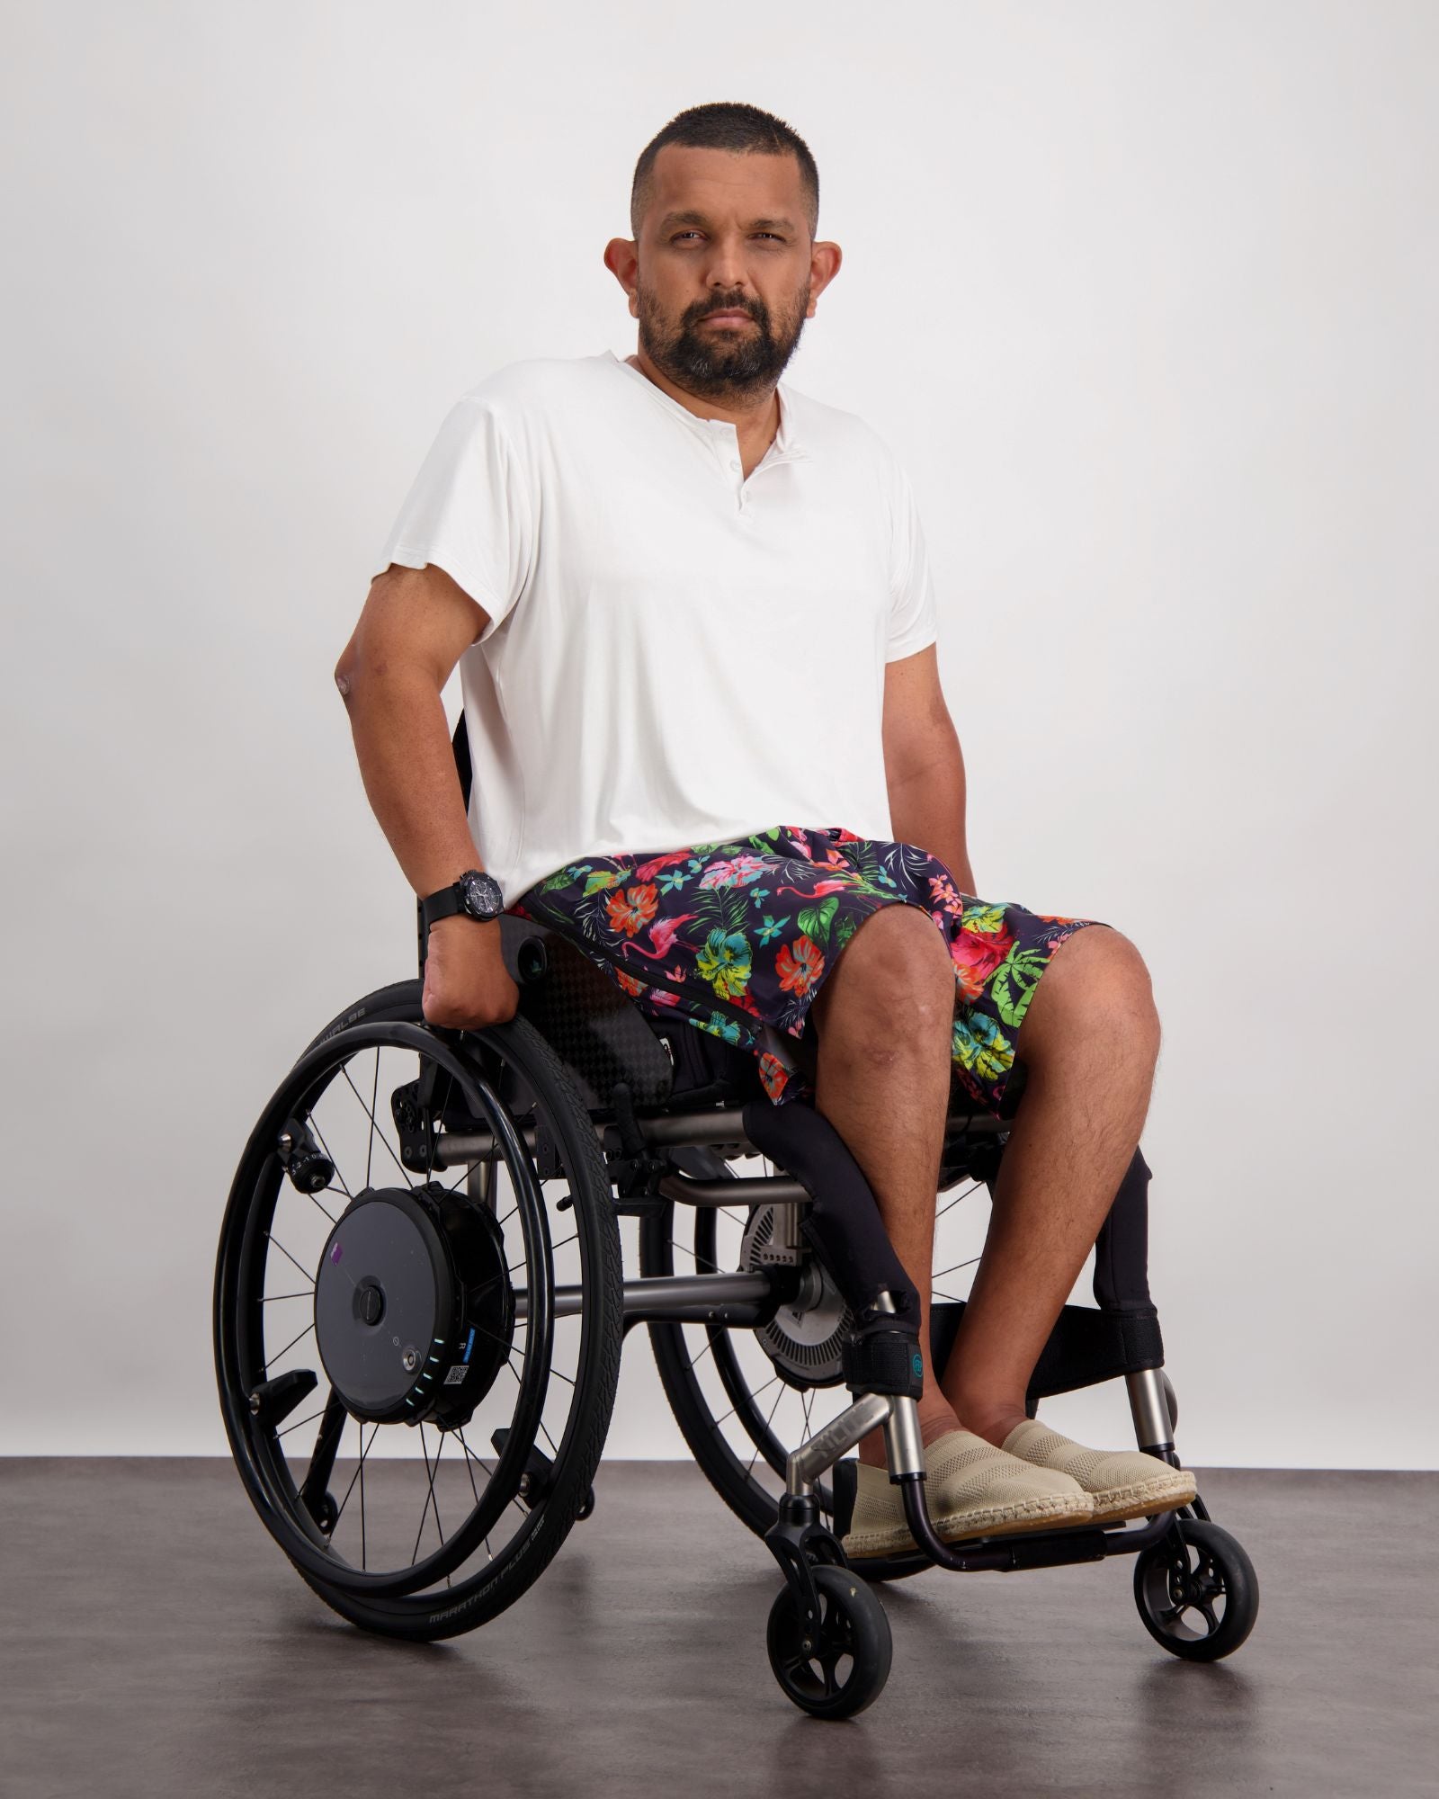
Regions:
<svg viewBox="0 0 1439 1799"><path fill-rule="evenodd" d="M356 1418L468 1423L514 1337L495 1216L437 1182L358 1193L326 1240L315 1337Z"/></svg>

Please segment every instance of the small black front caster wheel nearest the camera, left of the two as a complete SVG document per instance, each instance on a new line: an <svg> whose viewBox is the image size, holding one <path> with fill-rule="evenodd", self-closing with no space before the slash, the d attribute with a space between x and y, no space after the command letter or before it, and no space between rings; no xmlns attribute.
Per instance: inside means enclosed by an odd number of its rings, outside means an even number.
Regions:
<svg viewBox="0 0 1439 1799"><path fill-rule="evenodd" d="M853 1718L889 1680L894 1642L878 1598L849 1569L811 1569L820 1596L818 1623L806 1628L788 1585L775 1594L764 1641L770 1668L800 1711Z"/></svg>

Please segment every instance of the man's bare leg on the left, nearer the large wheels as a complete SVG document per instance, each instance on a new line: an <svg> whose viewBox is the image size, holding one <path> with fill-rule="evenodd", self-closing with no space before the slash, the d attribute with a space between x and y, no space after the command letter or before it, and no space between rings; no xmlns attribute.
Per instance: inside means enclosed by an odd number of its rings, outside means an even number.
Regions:
<svg viewBox="0 0 1439 1799"><path fill-rule="evenodd" d="M919 1288L925 1443L957 1423L930 1365L934 1218L953 1016L955 971L944 937L919 907L889 905L845 944L815 995L804 1033L818 1031L815 1110L863 1169L894 1252ZM860 1461L883 1466L881 1432L863 1437Z"/></svg>

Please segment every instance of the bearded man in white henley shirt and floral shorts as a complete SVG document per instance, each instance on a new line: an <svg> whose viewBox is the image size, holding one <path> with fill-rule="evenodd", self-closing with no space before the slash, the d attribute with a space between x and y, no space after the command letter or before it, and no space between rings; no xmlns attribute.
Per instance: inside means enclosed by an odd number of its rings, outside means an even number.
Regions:
<svg viewBox="0 0 1439 1799"><path fill-rule="evenodd" d="M606 268L633 356L536 358L448 414L336 667L365 792L428 925L425 1018L511 1020L500 916L568 937L653 1018L754 1054L863 1169L919 1292L941 1538L1194 1499L1029 1414L1131 1168L1160 1027L1135 944L982 900L910 482L781 380L840 268L800 139L682 113ZM459 667L460 793L441 691ZM993 1222L943 1376L930 1256L955 1096L997 1117ZM874 1428L844 1547L912 1551Z"/></svg>

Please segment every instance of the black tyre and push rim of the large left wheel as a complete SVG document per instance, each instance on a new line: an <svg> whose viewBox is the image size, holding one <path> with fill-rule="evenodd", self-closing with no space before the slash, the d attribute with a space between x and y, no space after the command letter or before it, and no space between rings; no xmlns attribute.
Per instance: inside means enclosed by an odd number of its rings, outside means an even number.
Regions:
<svg viewBox="0 0 1439 1799"><path fill-rule="evenodd" d="M347 1007L345 1013L331 1020L318 1033L261 1115L236 1173L221 1227L214 1283L214 1342L221 1412L236 1464L261 1520L286 1551L300 1578L329 1607L354 1624L383 1635L435 1641L473 1630L513 1605L547 1567L576 1518L592 1502L592 1481L604 1446L619 1382L622 1270L619 1229L604 1155L585 1103L554 1049L529 1020L518 1015L507 1024L464 1033L462 1036L457 1033L430 1033L421 1018L419 993L419 980L403 980L369 993ZM354 1047L365 1051L371 1045L376 1051L376 1083L380 1078L381 1051L389 1052L394 1045L401 1052L421 1045L421 1054L430 1054L435 1061L446 1058L453 1067L469 1070L469 1092L475 1096L482 1092L482 1083L489 1083L493 1099L495 1087L498 1085L496 1070L504 1070L511 1085L514 1081L520 1083L520 1090L527 1092L532 1099L536 1121L543 1121L552 1133L563 1164L563 1175L558 1178L568 1191L570 1202L563 1213L565 1231L572 1232L572 1240L577 1245L574 1256L579 1259L581 1284L585 1288L585 1304L579 1313L581 1337L576 1351L576 1373L570 1383L574 1396L568 1401L563 1428L556 1423L558 1441L545 1432L549 1446L554 1450L549 1484L538 1499L520 1504L514 1493L520 1491L520 1463L529 1445L516 1443L504 1450L496 1448L496 1468L486 1472L495 1479L509 1468L505 1472L505 1481L509 1482L505 1490L507 1497L496 1495L496 1502L504 1504L505 1518L509 1518L507 1508L514 1506L522 1520L518 1529L509 1542L502 1544L498 1554L489 1554L489 1560L484 1560L484 1554L477 1551L469 1558L471 1567L475 1567L473 1572L464 1571L462 1563L457 1563L455 1569L444 1569L442 1578L437 1578L425 1590L416 1589L414 1583L405 1585L403 1580L396 1580L387 1590L365 1585L369 1565L363 1560L360 1569L356 1569L353 1562L336 1560L329 1554L333 1545L327 1540L327 1531L318 1527L317 1513L320 1518L329 1520L333 1527L336 1509L333 1497L309 1502L309 1518L317 1522L317 1529L311 1531L299 1508L302 1488L297 1491L295 1482L288 1479L284 1457L273 1452L273 1443L266 1443L261 1437L264 1428L270 1428L273 1437L273 1427L255 1423L246 1403L246 1392L255 1373L254 1365L246 1365L246 1356L257 1362L261 1371L270 1369L275 1360L268 1358L268 1346L263 1342L261 1347L266 1351L263 1356L257 1355L254 1344L246 1344L246 1337L255 1335L254 1319L257 1311L254 1290L245 1284L252 1277L243 1274L243 1265L254 1263L255 1256L268 1252L255 1247L257 1236L273 1241L275 1195L284 1186L279 1159L273 1153L277 1119L295 1110L299 1105L297 1096L317 1092L317 1081L326 1078L326 1070L344 1069L347 1074L349 1063L344 1058ZM335 1083L335 1090L338 1092L338 1072L331 1072L327 1079ZM349 1085L354 1088L354 1081ZM363 1096L358 1097L363 1108L365 1099ZM374 1124L376 1112L378 1108L371 1112L371 1124ZM471 1112L478 1115L482 1108L477 1108L471 1101ZM500 1124L509 1121L509 1128L513 1130L513 1117L504 1106L496 1108L496 1119ZM525 1157L523 1142L520 1139L514 1141L520 1144L520 1155ZM390 1159L394 1160L392 1150ZM514 1166L520 1164L516 1162ZM498 1162L489 1164L489 1178L496 1178L496 1168ZM369 1164L365 1175L365 1184L369 1186ZM549 1218L543 1213L547 1204L543 1196L545 1182L534 1177L532 1164L529 1164L529 1175L525 1175L523 1184L531 1198L522 1196L516 1200L514 1211L522 1216L522 1225L516 1229L523 1229L525 1243L531 1243L531 1223L538 1216L536 1229L543 1231L541 1252L527 1249L527 1259L543 1265L552 1292L552 1245ZM345 1193L349 1195L349 1187L345 1187ZM532 1196L534 1193L540 1195L538 1202ZM536 1204L540 1207L538 1214L534 1211ZM324 1205L320 1209L326 1211ZM268 1218L270 1222L255 1227L255 1218ZM565 1241L570 1241L570 1238ZM306 1274L304 1266L300 1266L300 1274ZM532 1277L527 1275L529 1279ZM538 1288L538 1292L543 1292L543 1288ZM302 1293L293 1297L304 1299ZM239 1324L241 1315L248 1320L243 1326ZM538 1329L540 1324L536 1322ZM545 1346L545 1356L549 1356L549 1346ZM525 1353L525 1367L529 1367L529 1353ZM545 1374L549 1374L549 1360L545 1362ZM568 1376L565 1378L568 1380ZM518 1373L516 1380L522 1389L516 1407L522 1409L525 1401L525 1380ZM338 1403L333 1391L329 1403L338 1405L338 1410L344 1414L344 1405ZM545 1398L540 1403L543 1405ZM520 1410L516 1410L518 1416ZM363 1423L358 1423L362 1446L360 1468L363 1470L367 1450L363 1445ZM344 1418L340 1428L344 1428ZM543 1430L543 1416L540 1416L540 1430ZM423 1439L425 1427L421 1427L419 1434ZM462 1437L460 1441L464 1443ZM371 1436L371 1443L374 1443L374 1436ZM464 1445L464 1457L460 1468L469 1477L469 1488L475 1491L473 1518L482 1509L482 1497L475 1482L475 1466L484 1466L484 1463L473 1455L468 1445ZM381 1466L389 1464L380 1461L371 1463L372 1481L378 1477ZM426 1470L430 1468L428 1448L425 1466ZM450 1468L453 1468L453 1457ZM435 1452L437 1470L439 1448ZM430 1502L433 1502L433 1495L435 1473L430 1475ZM486 1486L487 1500L489 1486ZM363 1481L360 1504L363 1508ZM344 1499L338 1502L338 1509L344 1509ZM423 1527L425 1515L421 1513ZM441 1535L444 1549L437 1506L435 1529ZM451 1549L460 1535L462 1531L453 1533ZM487 1540L484 1549L489 1553ZM336 1567L333 1578L327 1572L331 1565ZM435 1565L442 1567L441 1562Z"/></svg>

